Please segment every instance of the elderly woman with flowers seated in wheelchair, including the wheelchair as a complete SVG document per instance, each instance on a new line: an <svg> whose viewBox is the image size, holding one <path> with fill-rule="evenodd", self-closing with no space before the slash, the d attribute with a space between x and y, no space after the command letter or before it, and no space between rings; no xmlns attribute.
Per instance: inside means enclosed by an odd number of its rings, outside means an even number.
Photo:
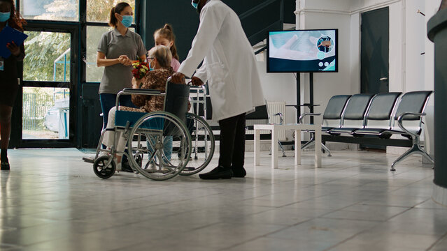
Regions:
<svg viewBox="0 0 447 251"><path fill-rule="evenodd" d="M211 128L200 117L187 114L190 86L169 82L174 73L171 59L168 47L153 47L148 56L153 70L141 82L134 79L132 89L118 93L117 105L109 112L93 164L94 173L100 178L109 178L115 170L121 170L122 155L127 155L135 173L154 180L195 174L211 160L214 151ZM121 95L132 95L132 102L139 108L118 106ZM192 128L187 128L186 123L202 132L191 135ZM206 154L199 163L187 166L193 150L191 137L205 141ZM101 144L107 149L101 149Z"/></svg>

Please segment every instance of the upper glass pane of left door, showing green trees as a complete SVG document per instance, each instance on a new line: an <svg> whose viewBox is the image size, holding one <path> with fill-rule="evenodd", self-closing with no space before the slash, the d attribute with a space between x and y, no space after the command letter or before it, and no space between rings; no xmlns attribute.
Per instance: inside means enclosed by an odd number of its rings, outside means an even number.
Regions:
<svg viewBox="0 0 447 251"><path fill-rule="evenodd" d="M25 31L23 79L70 82L70 34Z"/></svg>

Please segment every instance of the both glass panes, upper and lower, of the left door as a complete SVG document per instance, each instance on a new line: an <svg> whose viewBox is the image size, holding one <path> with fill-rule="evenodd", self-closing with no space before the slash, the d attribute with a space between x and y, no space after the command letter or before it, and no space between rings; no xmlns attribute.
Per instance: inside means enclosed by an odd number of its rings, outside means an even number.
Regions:
<svg viewBox="0 0 447 251"><path fill-rule="evenodd" d="M22 139L69 139L70 33L25 33Z"/></svg>

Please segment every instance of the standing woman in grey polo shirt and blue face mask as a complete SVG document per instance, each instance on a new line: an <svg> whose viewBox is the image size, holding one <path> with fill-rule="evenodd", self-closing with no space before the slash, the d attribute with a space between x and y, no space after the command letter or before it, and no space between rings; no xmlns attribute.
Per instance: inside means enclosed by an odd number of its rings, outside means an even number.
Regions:
<svg viewBox="0 0 447 251"><path fill-rule="evenodd" d="M111 9L108 22L113 30L104 33L99 40L97 66L104 66L99 84L103 129L107 126L108 112L115 106L118 92L132 88L132 61L146 60L146 47L141 36L129 30L133 16L129 3L118 3ZM120 104L134 107L130 96L122 96Z"/></svg>

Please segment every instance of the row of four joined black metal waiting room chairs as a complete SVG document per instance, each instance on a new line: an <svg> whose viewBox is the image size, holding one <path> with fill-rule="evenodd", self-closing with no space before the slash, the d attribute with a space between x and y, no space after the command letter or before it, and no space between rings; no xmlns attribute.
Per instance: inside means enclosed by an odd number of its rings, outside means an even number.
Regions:
<svg viewBox="0 0 447 251"><path fill-rule="evenodd" d="M395 171L397 162L413 153L420 153L431 162L432 157L420 146L425 107L433 91L411 91L407 93L392 92L379 94L360 93L353 96L337 95L330 98L322 116L322 132L329 135L350 135L363 137L375 135L381 139L389 139L393 134L402 135L412 141L411 149L400 155L391 165ZM306 116L320 114L301 114L299 123ZM314 144L311 140L301 146L305 149ZM322 148L329 153L327 147Z"/></svg>

